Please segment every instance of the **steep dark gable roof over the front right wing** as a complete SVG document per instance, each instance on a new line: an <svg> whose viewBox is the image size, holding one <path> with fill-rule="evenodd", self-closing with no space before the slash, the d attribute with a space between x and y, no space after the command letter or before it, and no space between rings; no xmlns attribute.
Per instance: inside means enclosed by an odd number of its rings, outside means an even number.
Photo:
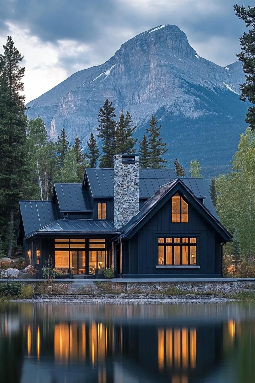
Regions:
<svg viewBox="0 0 255 383"><path fill-rule="evenodd" d="M229 237L229 240L231 239L231 235L229 232L222 226L222 224L219 222L218 218L215 217L209 209L205 207L203 203L197 198L197 196L194 195L192 191L190 191L190 188L185 185L184 182L185 178L175 178L175 180L167 183L166 185L161 186L158 191L148 200L145 202L145 204L141 207L141 209L138 211L138 213L130 219L130 221L123 226L122 234L119 236L119 238L127 237L127 235L147 216L151 210L158 205L158 203L169 193L172 188L177 185L177 183L180 183L185 190L187 190L193 198L197 201L197 203L203 208L203 210L206 211L206 213L209 214L209 216L213 219L214 224L216 224L216 228L220 228L227 237Z"/></svg>

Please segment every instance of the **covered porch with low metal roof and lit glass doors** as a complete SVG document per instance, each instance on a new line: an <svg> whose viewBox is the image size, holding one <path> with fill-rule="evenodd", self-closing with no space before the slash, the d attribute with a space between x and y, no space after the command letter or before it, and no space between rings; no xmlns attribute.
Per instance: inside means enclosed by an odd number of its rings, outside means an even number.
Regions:
<svg viewBox="0 0 255 383"><path fill-rule="evenodd" d="M37 278L49 258L57 278L102 278L103 270L113 266L116 234L111 221L59 219L26 238L24 256Z"/></svg>

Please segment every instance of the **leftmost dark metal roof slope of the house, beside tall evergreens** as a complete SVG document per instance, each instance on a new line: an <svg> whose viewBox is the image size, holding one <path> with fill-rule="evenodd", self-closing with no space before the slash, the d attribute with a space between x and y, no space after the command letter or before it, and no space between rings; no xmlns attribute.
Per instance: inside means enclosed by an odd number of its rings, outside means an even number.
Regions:
<svg viewBox="0 0 255 383"><path fill-rule="evenodd" d="M55 205L51 201L19 201L25 237L57 219Z"/></svg>

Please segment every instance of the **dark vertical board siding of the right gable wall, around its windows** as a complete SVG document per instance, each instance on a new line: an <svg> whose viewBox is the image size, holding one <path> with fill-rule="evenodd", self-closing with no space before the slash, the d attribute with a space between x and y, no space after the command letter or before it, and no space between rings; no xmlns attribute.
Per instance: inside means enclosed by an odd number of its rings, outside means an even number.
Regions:
<svg viewBox="0 0 255 383"><path fill-rule="evenodd" d="M187 201L188 202L188 201ZM158 237L197 237L197 266L200 268L156 268L158 265ZM221 242L217 232L188 205L188 223L171 222L169 200L129 240L128 270L124 274L219 275L221 273Z"/></svg>

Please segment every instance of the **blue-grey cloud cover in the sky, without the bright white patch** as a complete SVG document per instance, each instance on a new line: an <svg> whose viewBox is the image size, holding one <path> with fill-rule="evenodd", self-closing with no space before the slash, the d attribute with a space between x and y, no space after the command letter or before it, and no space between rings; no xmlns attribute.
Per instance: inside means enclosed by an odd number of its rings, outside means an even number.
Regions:
<svg viewBox="0 0 255 383"><path fill-rule="evenodd" d="M55 44L58 64L70 74L109 59L119 46L135 34L162 23L182 29L198 54L217 64L235 61L244 23L234 15L232 0L2 0L0 30L6 22L27 28L42 42ZM138 4L138 5L137 5ZM72 56L58 51L59 41L87 44L88 51ZM219 39L219 44L217 44ZM227 49L222 46L226 41ZM213 41L213 44L211 43ZM211 49L208 44L212 44Z"/></svg>

